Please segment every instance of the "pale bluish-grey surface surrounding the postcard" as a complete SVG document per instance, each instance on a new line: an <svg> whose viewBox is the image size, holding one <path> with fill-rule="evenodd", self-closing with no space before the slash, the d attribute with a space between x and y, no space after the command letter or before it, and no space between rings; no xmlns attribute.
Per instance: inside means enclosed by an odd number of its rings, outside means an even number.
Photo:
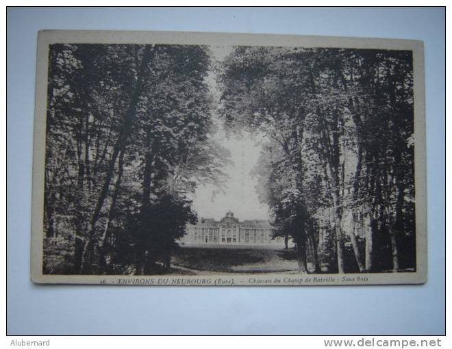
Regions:
<svg viewBox="0 0 452 349"><path fill-rule="evenodd" d="M9 335L445 333L445 20L442 8L9 8ZM425 42L428 281L324 287L101 287L29 279L36 36L40 29L223 31Z"/></svg>

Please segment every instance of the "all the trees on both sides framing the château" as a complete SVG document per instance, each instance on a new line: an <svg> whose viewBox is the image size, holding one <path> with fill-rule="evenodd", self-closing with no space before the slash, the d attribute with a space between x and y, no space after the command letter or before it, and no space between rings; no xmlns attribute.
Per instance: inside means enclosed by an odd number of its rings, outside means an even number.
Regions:
<svg viewBox="0 0 452 349"><path fill-rule="evenodd" d="M412 51L51 44L44 274L164 274L227 134L298 272L416 270ZM214 98L212 77L219 98Z"/></svg>

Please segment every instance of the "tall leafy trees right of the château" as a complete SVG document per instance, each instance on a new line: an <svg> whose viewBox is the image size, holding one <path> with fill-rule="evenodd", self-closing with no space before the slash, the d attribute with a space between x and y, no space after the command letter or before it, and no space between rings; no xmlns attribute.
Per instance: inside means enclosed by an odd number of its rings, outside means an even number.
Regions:
<svg viewBox="0 0 452 349"><path fill-rule="evenodd" d="M411 51L236 47L218 86L299 272L415 270Z"/></svg>

